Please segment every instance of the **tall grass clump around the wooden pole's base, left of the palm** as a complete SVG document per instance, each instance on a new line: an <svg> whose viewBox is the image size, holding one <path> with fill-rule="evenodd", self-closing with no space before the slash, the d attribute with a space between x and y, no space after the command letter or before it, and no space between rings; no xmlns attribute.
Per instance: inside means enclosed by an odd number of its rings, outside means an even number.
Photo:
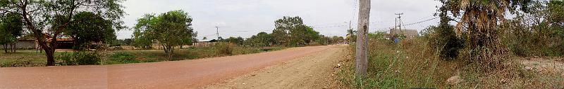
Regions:
<svg viewBox="0 0 564 89"><path fill-rule="evenodd" d="M350 88L448 88L445 81L455 75L455 62L440 60L421 39L392 43L385 39L369 41L366 78L354 75L354 66L341 69L341 81ZM354 52L350 48L350 52ZM354 57L347 64L354 65Z"/></svg>

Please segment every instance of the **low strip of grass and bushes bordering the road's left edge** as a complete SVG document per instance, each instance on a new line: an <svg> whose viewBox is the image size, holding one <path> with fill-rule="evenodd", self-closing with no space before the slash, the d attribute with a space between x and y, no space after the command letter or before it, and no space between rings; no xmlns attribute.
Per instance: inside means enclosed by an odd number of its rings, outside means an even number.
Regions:
<svg viewBox="0 0 564 89"><path fill-rule="evenodd" d="M267 51L282 50L286 47L265 48L231 47L230 55L245 55ZM195 60L207 57L228 56L216 47L177 49L172 58L167 58L164 50L112 50L112 51L69 51L57 52L56 65L128 64L140 62L162 62L176 60ZM0 53L0 67L43 67L44 53L35 50L18 50L16 53Z"/></svg>

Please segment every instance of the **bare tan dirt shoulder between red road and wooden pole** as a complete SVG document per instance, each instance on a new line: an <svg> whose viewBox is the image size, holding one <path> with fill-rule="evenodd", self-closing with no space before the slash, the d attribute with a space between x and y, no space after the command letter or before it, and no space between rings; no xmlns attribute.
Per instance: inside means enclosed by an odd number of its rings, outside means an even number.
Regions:
<svg viewBox="0 0 564 89"><path fill-rule="evenodd" d="M329 48L205 88L338 88L334 78L345 47Z"/></svg>

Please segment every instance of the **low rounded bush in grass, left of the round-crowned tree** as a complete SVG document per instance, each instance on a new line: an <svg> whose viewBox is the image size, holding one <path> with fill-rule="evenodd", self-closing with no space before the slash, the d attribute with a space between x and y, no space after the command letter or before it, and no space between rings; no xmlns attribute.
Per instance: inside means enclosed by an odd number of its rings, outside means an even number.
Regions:
<svg viewBox="0 0 564 89"><path fill-rule="evenodd" d="M119 62L119 63L137 63L137 62L139 62L139 60L136 60L135 58L136 58L135 55L133 55L131 53L119 52L119 53L114 53L114 54L110 55L109 60L114 61L114 62ZM115 63L109 63L109 64L115 64Z"/></svg>

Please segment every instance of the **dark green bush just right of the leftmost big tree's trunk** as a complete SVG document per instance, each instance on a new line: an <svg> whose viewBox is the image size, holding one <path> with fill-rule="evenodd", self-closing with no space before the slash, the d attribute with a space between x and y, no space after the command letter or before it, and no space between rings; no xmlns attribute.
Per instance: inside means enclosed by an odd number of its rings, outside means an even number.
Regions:
<svg viewBox="0 0 564 89"><path fill-rule="evenodd" d="M74 53L63 53L56 57L61 60L58 64L61 65L89 65L100 64L101 57L96 52L78 51Z"/></svg>

